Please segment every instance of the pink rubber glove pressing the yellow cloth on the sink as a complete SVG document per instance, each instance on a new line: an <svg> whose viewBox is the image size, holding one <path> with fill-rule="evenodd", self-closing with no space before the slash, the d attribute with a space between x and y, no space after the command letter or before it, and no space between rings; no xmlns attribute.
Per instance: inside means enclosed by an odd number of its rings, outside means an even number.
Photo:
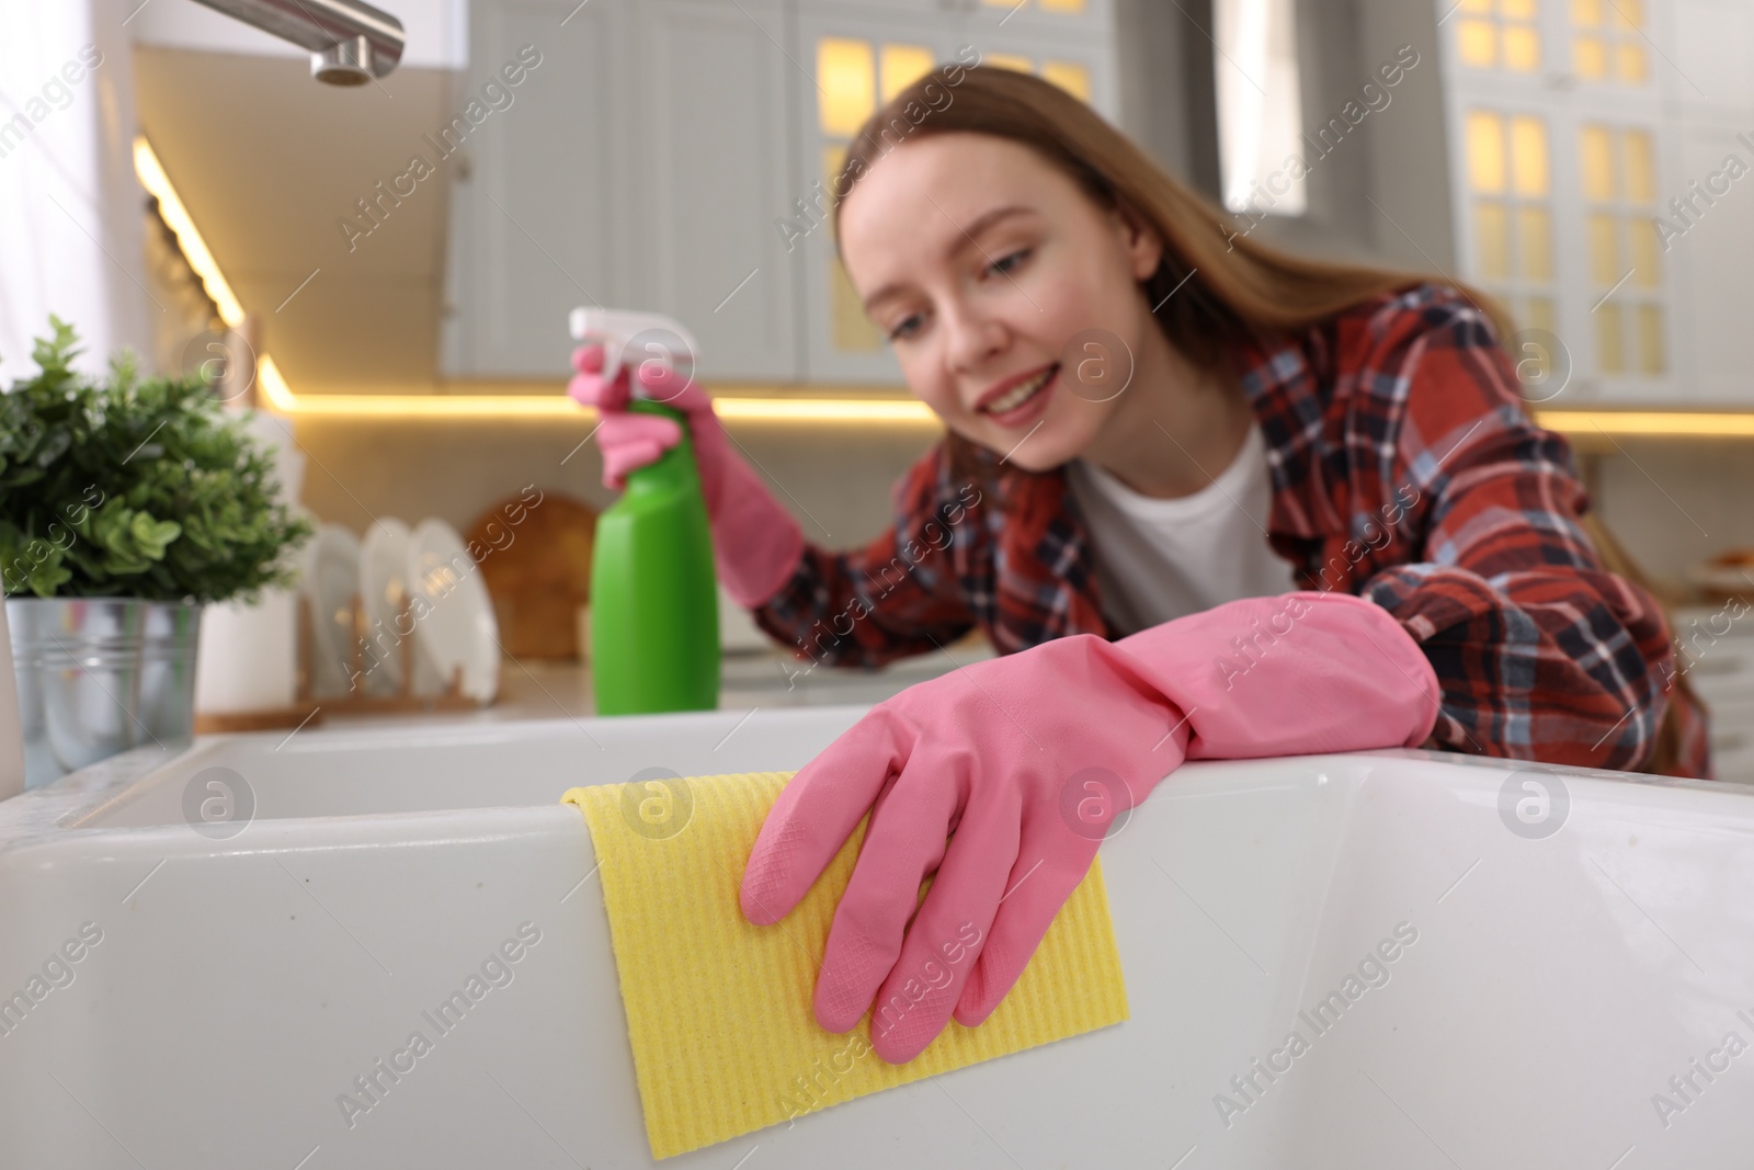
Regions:
<svg viewBox="0 0 1754 1170"><path fill-rule="evenodd" d="M1412 747L1437 710L1419 646L1349 595L1056 639L907 688L800 768L749 854L742 909L756 924L789 914L870 812L816 1019L847 1031L870 1010L872 1047L903 1063L952 1014L973 1026L998 1007L1114 817L1182 760Z"/></svg>

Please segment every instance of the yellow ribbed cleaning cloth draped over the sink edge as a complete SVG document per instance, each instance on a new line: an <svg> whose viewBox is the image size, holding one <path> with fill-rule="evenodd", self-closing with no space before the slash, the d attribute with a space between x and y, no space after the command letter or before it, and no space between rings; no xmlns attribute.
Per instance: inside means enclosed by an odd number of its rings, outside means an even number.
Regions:
<svg viewBox="0 0 1754 1170"><path fill-rule="evenodd" d="M870 1014L824 1031L812 991L865 824L798 907L756 926L737 902L744 865L791 772L668 781L654 831L624 784L574 788L596 845L652 1158L684 1154L826 1105L1128 1017L1102 865L1072 893L1010 995L977 1028L954 1019L907 1065L870 1047ZM665 798L660 795L663 803ZM686 807L682 807L686 805Z"/></svg>

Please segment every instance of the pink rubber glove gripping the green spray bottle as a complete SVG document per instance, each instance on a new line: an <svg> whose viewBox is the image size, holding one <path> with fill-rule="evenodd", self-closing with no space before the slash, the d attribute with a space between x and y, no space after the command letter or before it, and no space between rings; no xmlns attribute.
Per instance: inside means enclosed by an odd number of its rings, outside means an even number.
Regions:
<svg viewBox="0 0 1754 1170"><path fill-rule="evenodd" d="M616 381L607 382L600 377L603 346L595 342L574 349L572 365L577 374L567 393L596 407L602 419L596 446L603 453L603 486L621 491L628 472L654 463L682 439L672 419L628 410L628 379L637 367L640 384L654 402L688 414L700 493L712 519L712 560L724 591L744 609L756 609L779 593L803 556L803 530L744 458L731 451L731 439L707 391L661 361L623 363Z"/></svg>

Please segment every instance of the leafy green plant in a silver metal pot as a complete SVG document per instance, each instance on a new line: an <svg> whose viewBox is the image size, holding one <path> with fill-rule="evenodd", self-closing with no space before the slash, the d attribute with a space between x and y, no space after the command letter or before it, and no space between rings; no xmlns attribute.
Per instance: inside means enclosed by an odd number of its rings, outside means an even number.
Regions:
<svg viewBox="0 0 1754 1170"><path fill-rule="evenodd" d="M91 379L49 317L37 372L0 393L0 586L26 784L191 737L200 607L291 579L310 523L274 463L195 377Z"/></svg>

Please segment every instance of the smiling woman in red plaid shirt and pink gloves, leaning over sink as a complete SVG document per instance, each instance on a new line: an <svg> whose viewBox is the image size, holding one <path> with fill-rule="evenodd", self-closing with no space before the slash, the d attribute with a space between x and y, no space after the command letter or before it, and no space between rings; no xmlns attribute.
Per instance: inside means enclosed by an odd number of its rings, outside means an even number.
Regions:
<svg viewBox="0 0 1754 1170"><path fill-rule="evenodd" d="M640 374L689 410L719 575L763 630L837 667L977 624L1000 651L873 707L761 830L742 907L775 923L870 814L824 1028L872 1012L875 1051L905 1061L952 1014L982 1021L1114 817L1187 758L1647 768L1666 717L1665 767L1705 774L1661 610L1601 568L1493 305L1238 237L1007 70L900 93L835 193L847 274L949 432L896 484L893 530L803 540L707 396ZM677 428L619 410L600 351L575 363L619 486Z"/></svg>

